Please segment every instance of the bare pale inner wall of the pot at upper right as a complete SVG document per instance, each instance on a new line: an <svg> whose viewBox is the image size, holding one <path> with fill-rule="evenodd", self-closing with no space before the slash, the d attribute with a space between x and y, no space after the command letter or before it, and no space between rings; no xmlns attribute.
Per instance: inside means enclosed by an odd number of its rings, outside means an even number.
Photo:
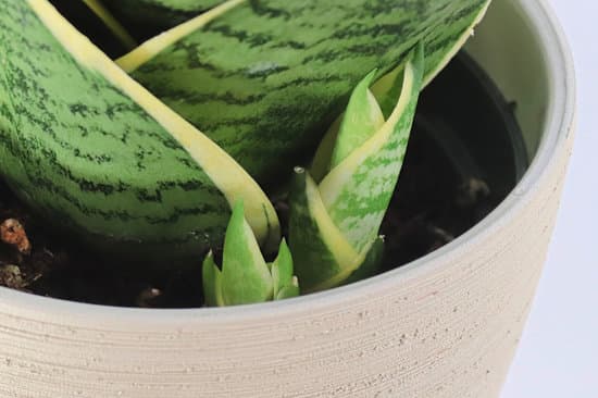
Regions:
<svg viewBox="0 0 598 398"><path fill-rule="evenodd" d="M534 2L493 1L486 18L465 46L466 52L514 104L528 159L534 159L538 151L553 97L547 43L526 15L528 3ZM545 23L547 26L543 27L548 29L548 21Z"/></svg>

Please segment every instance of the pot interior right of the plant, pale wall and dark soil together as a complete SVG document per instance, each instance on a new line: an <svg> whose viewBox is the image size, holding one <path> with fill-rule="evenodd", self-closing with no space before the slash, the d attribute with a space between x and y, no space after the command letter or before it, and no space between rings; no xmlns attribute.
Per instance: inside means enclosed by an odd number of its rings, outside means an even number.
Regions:
<svg viewBox="0 0 598 398"><path fill-rule="evenodd" d="M424 91L396 198L399 220L408 203L418 206L414 213L422 216L385 225L385 234L399 235L400 242L389 248L387 270L421 258L474 226L518 186L543 142L548 142L544 134L549 116L552 109L559 111L556 83L548 76L558 72L551 67L560 63L551 57L562 54L551 53L541 37L551 29L548 21L536 26L530 20L532 9L538 8L535 1L494 1L465 46L474 63L459 55ZM552 45L558 50L559 43ZM476 77L463 77L468 73ZM426 160L435 166L418 177L411 171L418 153L444 160ZM440 196L452 200L440 203L444 214L431 216L426 209L438 210L435 198ZM456 203L466 199L477 200L469 211ZM426 247L421 246L422 235L427 235Z"/></svg>

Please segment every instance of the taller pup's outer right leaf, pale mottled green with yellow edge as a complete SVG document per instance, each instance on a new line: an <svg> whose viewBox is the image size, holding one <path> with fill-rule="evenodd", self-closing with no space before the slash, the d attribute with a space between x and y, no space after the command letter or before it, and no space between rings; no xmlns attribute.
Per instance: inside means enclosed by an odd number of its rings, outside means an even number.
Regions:
<svg viewBox="0 0 598 398"><path fill-rule="evenodd" d="M397 76L402 77L401 91L388 120L320 183L331 217L358 251L376 238L395 191L422 87L423 65L420 47Z"/></svg>

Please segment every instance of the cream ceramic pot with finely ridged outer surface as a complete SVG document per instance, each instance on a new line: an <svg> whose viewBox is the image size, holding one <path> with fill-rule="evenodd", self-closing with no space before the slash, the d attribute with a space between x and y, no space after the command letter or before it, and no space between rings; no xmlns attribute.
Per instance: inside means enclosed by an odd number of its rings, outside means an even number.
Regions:
<svg viewBox="0 0 598 398"><path fill-rule="evenodd" d="M260 306L138 310L0 289L1 397L496 397L534 297L574 127L543 1L495 0L470 53L533 159L473 229L401 269Z"/></svg>

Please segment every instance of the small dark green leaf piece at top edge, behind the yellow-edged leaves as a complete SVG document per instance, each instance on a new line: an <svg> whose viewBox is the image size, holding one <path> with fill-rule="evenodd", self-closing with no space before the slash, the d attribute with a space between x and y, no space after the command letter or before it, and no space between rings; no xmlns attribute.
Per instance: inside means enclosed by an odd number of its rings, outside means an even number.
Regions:
<svg viewBox="0 0 598 398"><path fill-rule="evenodd" d="M192 18L225 0L103 0L125 25L169 28Z"/></svg>

